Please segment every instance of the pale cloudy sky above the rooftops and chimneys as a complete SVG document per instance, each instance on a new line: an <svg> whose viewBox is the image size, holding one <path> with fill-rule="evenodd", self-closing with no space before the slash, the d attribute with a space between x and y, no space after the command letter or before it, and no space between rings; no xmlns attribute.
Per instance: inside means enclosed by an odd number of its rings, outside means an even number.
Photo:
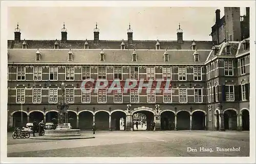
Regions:
<svg viewBox="0 0 256 164"><path fill-rule="evenodd" d="M65 22L69 40L93 39L96 22L100 40L176 40L179 23L183 40L211 40L217 7L8 7L8 39L17 22L22 40L61 39ZM241 15L244 9L241 8Z"/></svg>

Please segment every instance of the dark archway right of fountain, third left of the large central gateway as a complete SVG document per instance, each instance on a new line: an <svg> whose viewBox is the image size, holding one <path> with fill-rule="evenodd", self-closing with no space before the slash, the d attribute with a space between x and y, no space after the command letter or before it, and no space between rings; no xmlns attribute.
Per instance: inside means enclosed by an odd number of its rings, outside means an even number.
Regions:
<svg viewBox="0 0 256 164"><path fill-rule="evenodd" d="M90 111L82 111L78 115L79 118L79 129L92 130L93 125L93 113Z"/></svg>

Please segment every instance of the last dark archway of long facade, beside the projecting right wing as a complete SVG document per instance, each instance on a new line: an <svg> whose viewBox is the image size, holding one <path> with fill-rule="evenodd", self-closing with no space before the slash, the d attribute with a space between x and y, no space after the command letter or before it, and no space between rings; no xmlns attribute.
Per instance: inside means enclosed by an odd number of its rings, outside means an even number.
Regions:
<svg viewBox="0 0 256 164"><path fill-rule="evenodd" d="M192 129L204 130L205 129L205 113L203 111L195 111L192 114Z"/></svg>

